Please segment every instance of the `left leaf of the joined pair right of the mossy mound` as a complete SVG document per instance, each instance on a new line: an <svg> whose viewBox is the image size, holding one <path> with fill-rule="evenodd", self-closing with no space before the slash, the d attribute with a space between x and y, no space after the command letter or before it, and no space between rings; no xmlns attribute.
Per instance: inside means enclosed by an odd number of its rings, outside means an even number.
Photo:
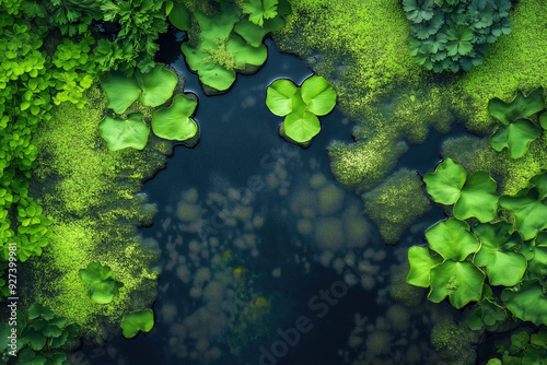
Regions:
<svg viewBox="0 0 547 365"><path fill-rule="evenodd" d="M454 204L459 199L467 174L458 163L446 158L434 173L423 176L426 189L433 200L441 204Z"/></svg>

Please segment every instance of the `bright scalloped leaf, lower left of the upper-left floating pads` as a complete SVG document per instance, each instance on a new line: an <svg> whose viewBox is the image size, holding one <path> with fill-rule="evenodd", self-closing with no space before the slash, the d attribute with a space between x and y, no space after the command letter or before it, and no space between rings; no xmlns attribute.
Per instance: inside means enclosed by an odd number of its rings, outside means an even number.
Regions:
<svg viewBox="0 0 547 365"><path fill-rule="evenodd" d="M98 123L98 128L110 151L126 148L142 150L150 133L150 127L144 123L140 113L131 114L127 120L106 116Z"/></svg>

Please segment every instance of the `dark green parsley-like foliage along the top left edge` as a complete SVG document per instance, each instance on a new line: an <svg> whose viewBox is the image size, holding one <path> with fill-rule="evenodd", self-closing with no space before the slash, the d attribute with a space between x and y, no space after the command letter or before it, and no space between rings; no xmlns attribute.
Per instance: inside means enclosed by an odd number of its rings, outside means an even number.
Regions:
<svg viewBox="0 0 547 365"><path fill-rule="evenodd" d="M101 71L123 70L131 73L137 67L148 72L154 66L155 43L167 31L166 15L172 1L165 0L42 0L21 3L25 16L40 27L55 27L62 35L89 34L92 22L115 27L114 37L101 36L93 49ZM95 31L95 30L93 30Z"/></svg>

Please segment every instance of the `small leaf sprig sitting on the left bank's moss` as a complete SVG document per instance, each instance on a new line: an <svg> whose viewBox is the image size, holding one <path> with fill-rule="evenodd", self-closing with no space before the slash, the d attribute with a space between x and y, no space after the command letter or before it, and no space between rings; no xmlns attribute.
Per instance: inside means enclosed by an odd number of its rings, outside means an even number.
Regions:
<svg viewBox="0 0 547 365"><path fill-rule="evenodd" d="M100 304L110 303L118 294L118 289L124 286L114 279L110 268L98 262L90 262L86 269L81 269L80 278L90 285L91 299Z"/></svg>

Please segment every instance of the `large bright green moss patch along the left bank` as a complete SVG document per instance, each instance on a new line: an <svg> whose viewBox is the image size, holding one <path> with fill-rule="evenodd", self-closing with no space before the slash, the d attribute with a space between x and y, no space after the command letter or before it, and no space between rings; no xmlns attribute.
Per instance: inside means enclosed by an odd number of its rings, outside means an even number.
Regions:
<svg viewBox="0 0 547 365"><path fill-rule="evenodd" d="M26 297L101 342L108 328L119 327L125 310L149 306L155 296L158 272L150 266L156 254L136 237L137 225L150 223L153 209L139 191L165 164L172 145L154 137L142 151L108 151L98 133L106 99L98 86L85 97L81 109L61 104L36 133L40 153L33 195L51 217L54 236L28 268L34 280ZM79 278L92 261L108 266L124 283L109 304L91 302Z"/></svg>

